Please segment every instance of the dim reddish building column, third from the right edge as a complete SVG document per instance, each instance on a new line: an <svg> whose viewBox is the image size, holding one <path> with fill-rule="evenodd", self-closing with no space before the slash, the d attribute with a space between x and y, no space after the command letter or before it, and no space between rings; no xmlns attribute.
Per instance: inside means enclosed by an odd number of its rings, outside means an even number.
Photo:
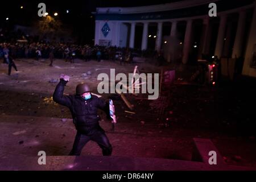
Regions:
<svg viewBox="0 0 256 182"><path fill-rule="evenodd" d="M218 56L218 58L221 58L222 56L222 48L224 44L224 36L226 30L226 19L226 15L222 15L220 20L220 26L218 27L218 38L214 53L214 55Z"/></svg>

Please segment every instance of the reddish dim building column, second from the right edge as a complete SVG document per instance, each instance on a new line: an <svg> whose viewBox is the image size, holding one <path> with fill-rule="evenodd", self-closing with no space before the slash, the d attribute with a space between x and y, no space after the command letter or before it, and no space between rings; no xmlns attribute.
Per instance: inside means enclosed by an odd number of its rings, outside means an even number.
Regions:
<svg viewBox="0 0 256 182"><path fill-rule="evenodd" d="M237 32L236 32L236 38L234 41L232 58L241 56L242 44L243 44L243 39L244 39L244 34L245 34L245 18L246 18L246 11L241 11L239 13Z"/></svg>

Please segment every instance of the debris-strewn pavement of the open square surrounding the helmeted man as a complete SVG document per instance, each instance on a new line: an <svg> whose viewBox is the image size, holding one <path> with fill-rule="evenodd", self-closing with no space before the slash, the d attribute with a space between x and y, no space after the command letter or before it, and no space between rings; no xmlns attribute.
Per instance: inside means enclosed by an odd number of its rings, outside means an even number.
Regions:
<svg viewBox="0 0 256 182"><path fill-rule="evenodd" d="M95 90L98 73L108 72L110 68L129 73L134 68L134 65L123 67L110 61L84 64L81 60L76 60L75 64L56 60L55 66L49 67L47 61L17 60L19 72L11 76L6 75L7 66L0 65L0 166L3 169L65 169L74 162L75 158L67 156L76 135L71 115L67 108L51 99L57 84L54 80L61 73L71 76L65 93L72 94L76 84L85 80ZM139 64L139 68L140 72L160 71L147 63ZM81 77L88 71L91 76ZM181 76L180 72L177 75ZM49 82L51 80L53 82ZM253 107L245 107L248 101L255 100L255 88L249 86L248 89L249 84L241 83L245 87L225 84L209 89L199 85L173 85L170 105L162 115L154 113L152 106L157 103L153 101L127 95L135 106L135 114L125 113L129 109L122 100L115 101L118 124L114 132L100 112L100 125L112 143L113 156L103 157L100 147L88 142L77 158L82 163L73 169L87 169L87 163L90 169L96 169L90 160L103 162L98 169L233 170L256 167L252 122L255 116ZM102 97L107 98L108 94ZM210 139L227 166L209 168L203 161L194 161L194 138ZM46 152L51 165L38 167L39 151ZM30 166L30 163L36 165ZM63 164L57 167L55 163Z"/></svg>

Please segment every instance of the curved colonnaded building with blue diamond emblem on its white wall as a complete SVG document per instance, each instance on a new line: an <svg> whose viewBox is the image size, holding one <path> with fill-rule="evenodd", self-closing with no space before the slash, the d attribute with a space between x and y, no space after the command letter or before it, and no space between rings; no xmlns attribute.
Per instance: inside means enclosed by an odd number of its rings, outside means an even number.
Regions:
<svg viewBox="0 0 256 182"><path fill-rule="evenodd" d="M217 16L210 17L210 3ZM98 7L94 44L155 49L187 64L205 55L242 57L243 75L256 77L254 0L195 0L139 7Z"/></svg>

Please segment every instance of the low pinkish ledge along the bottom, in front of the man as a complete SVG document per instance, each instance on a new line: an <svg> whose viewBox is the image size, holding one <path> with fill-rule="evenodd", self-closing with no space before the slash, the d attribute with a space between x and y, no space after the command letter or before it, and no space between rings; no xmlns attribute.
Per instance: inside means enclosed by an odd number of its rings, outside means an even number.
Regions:
<svg viewBox="0 0 256 182"><path fill-rule="evenodd" d="M134 158L127 156L47 156L1 160L0 170L7 171L255 171L256 168L218 166L185 160Z"/></svg>

